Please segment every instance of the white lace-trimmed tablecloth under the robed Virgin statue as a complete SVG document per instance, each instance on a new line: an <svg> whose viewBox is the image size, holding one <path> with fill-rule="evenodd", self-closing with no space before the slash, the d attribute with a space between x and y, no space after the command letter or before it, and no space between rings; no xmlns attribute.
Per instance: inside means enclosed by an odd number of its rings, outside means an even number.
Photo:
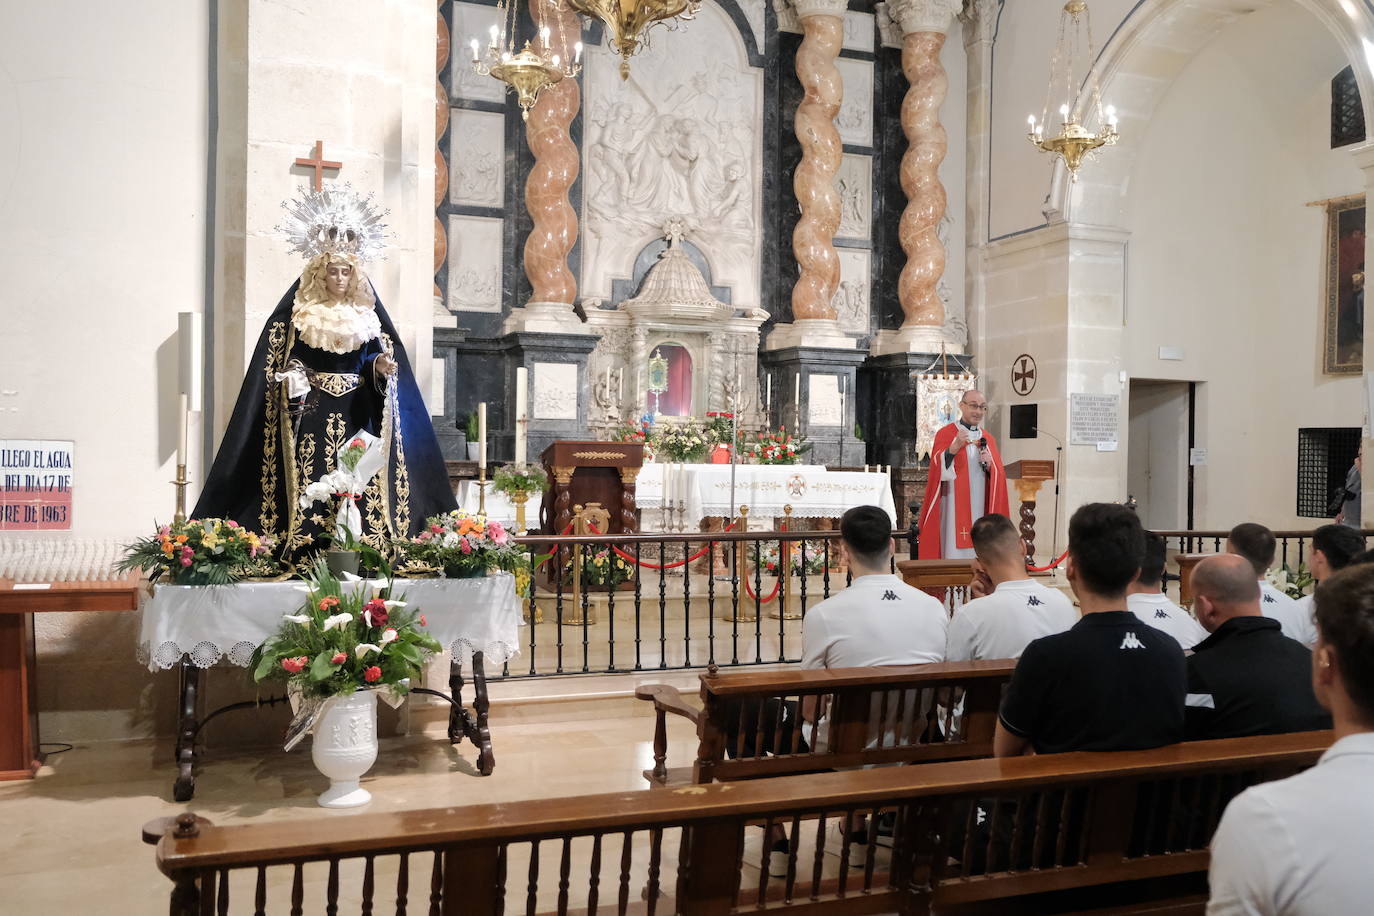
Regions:
<svg viewBox="0 0 1374 916"><path fill-rule="evenodd" d="M196 667L228 661L247 667L253 650L305 602L305 584L158 585L143 606L139 661L150 672L188 658ZM515 577L396 580L392 597L425 614L425 629L464 663L481 651L488 667L519 654Z"/></svg>

